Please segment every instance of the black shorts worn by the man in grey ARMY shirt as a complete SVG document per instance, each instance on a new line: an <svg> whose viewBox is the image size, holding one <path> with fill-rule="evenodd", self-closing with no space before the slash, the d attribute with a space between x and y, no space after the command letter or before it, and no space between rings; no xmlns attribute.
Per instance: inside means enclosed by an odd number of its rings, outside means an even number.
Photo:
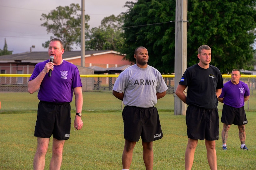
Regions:
<svg viewBox="0 0 256 170"><path fill-rule="evenodd" d="M163 137L158 111L155 107L125 106L123 110L124 139L152 142Z"/></svg>

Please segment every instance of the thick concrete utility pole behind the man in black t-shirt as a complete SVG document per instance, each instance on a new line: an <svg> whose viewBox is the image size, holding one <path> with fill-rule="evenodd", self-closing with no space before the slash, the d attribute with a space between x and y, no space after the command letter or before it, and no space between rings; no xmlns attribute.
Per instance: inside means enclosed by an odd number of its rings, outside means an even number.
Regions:
<svg viewBox="0 0 256 170"><path fill-rule="evenodd" d="M176 0L175 14L175 85L180 79L187 67L187 0ZM186 93L186 89L185 89ZM186 115L186 104L174 94L174 115Z"/></svg>

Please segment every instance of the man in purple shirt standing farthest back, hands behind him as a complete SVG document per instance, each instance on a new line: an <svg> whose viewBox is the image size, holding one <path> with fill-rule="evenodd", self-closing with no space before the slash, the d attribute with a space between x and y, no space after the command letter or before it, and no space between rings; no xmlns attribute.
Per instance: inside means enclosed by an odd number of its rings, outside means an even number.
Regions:
<svg viewBox="0 0 256 170"><path fill-rule="evenodd" d="M224 84L222 93L218 97L218 101L224 103L221 116L221 122L223 123L221 133L223 150L227 150L227 136L231 124L237 125L239 129L240 148L248 150L245 145L245 124L248 122L244 105L245 101L249 99L250 90L247 84L240 81L240 77L239 70L232 70L231 80Z"/></svg>

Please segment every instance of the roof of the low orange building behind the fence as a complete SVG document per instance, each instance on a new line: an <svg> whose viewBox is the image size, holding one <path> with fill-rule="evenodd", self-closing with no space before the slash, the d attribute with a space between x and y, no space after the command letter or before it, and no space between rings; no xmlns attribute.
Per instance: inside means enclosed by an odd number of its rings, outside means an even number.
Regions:
<svg viewBox="0 0 256 170"><path fill-rule="evenodd" d="M113 50L97 50L97 51L85 51L85 57L102 55L102 54L120 54L117 51ZM64 60L70 59L80 59L81 51L65 51L62 55ZM0 62L1 63L10 63L10 62L22 62L22 63L39 63L49 59L48 51L46 52L25 52L25 53L17 53L17 54L9 54L9 55L1 55Z"/></svg>

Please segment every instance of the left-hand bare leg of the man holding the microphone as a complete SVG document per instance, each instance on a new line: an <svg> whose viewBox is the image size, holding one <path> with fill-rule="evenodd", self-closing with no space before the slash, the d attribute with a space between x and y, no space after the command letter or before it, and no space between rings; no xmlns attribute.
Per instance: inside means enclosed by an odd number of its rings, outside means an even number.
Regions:
<svg viewBox="0 0 256 170"><path fill-rule="evenodd" d="M49 138L37 137L37 149L34 156L34 170L43 170L45 164L45 155L49 145Z"/></svg>

